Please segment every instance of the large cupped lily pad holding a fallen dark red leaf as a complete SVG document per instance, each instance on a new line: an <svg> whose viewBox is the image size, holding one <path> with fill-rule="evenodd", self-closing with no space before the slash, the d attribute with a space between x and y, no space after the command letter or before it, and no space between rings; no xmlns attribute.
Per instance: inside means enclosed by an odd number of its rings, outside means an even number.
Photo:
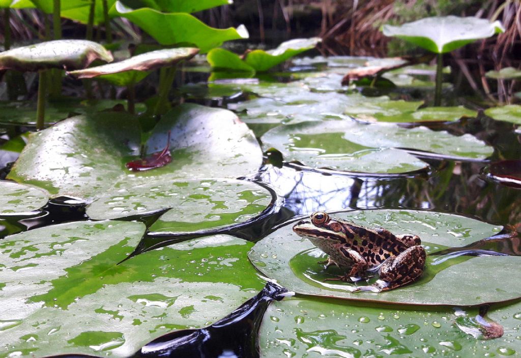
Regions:
<svg viewBox="0 0 521 358"><path fill-rule="evenodd" d="M9 178L46 188L53 196L93 199L112 187L209 175L236 178L255 173L261 166L262 151L255 137L230 111L180 105L154 127L146 144L148 152L163 150L169 132L171 163L136 173L125 164L138 155L137 118L120 112L72 117L34 133Z"/></svg>

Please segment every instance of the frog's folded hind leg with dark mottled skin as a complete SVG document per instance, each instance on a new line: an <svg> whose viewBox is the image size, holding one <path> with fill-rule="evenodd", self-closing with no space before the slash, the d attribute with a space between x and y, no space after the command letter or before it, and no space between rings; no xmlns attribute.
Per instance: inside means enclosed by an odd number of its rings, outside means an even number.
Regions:
<svg viewBox="0 0 521 358"><path fill-rule="evenodd" d="M358 290L380 292L406 285L417 280L425 268L425 249L419 245L408 248L398 256L383 262L380 279L371 286L358 287Z"/></svg>

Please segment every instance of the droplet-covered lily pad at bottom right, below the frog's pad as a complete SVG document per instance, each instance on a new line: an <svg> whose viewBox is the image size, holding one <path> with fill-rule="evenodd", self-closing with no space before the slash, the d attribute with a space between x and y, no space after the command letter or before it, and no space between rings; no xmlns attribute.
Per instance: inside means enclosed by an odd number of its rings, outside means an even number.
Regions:
<svg viewBox="0 0 521 358"><path fill-rule="evenodd" d="M513 318L519 311L519 304L502 308L499 314L493 311L491 315L498 316L495 321L504 326L505 333L502 338L483 341L460 330L454 323L460 317L452 310L421 312L290 299L269 306L259 348L263 358L515 356L521 351L520 322Z"/></svg>

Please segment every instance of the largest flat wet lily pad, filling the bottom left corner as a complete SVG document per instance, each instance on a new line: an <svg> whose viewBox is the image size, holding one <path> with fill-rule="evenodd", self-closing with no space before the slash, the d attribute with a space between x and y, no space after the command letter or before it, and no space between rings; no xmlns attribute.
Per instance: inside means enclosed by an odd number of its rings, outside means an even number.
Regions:
<svg viewBox="0 0 521 358"><path fill-rule="evenodd" d="M226 235L116 265L144 231L74 222L2 240L1 356L128 357L173 330L217 321L263 287L246 258L252 244Z"/></svg>

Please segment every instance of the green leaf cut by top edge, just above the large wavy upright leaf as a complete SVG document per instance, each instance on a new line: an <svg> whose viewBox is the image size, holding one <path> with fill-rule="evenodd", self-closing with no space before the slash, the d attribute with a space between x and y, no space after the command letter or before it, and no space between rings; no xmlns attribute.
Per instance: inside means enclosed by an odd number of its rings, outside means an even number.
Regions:
<svg viewBox="0 0 521 358"><path fill-rule="evenodd" d="M201 10L211 9L221 5L232 4L232 0L119 0L121 4L138 9L141 7L150 7L161 12L197 12Z"/></svg>

